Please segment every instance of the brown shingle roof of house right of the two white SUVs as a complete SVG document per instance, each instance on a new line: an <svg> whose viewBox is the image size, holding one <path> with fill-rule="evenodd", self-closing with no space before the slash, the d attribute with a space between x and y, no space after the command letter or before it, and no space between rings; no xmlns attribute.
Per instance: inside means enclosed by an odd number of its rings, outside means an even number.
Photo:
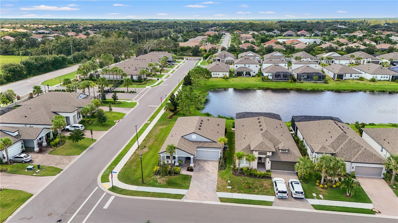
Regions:
<svg viewBox="0 0 398 223"><path fill-rule="evenodd" d="M297 122L296 126L306 143L320 153L334 152L344 161L355 163L384 162L382 156L347 124L321 120Z"/></svg>

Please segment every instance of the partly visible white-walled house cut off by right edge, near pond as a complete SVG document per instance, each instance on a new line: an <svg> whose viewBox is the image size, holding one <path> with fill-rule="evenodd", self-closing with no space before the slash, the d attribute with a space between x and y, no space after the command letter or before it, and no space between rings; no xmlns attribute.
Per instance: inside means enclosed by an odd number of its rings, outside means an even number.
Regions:
<svg viewBox="0 0 398 223"><path fill-rule="evenodd" d="M398 153L398 128L362 128L362 138L384 159Z"/></svg>

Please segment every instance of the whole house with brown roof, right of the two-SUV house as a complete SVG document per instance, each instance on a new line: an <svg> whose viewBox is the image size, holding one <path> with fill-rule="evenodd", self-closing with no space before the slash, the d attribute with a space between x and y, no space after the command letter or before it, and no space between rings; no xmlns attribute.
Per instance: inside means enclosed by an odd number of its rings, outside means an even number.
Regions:
<svg viewBox="0 0 398 223"><path fill-rule="evenodd" d="M314 161L323 154L343 159L347 173L357 176L382 177L384 158L380 156L349 125L333 120L302 121L295 123L297 136L304 141Z"/></svg>

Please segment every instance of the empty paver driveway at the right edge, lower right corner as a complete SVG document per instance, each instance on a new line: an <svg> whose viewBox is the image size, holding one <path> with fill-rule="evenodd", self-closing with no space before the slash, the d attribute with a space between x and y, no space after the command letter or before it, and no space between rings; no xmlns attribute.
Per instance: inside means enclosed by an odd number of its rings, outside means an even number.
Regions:
<svg viewBox="0 0 398 223"><path fill-rule="evenodd" d="M398 215L398 198L383 179L357 177L357 180L371 199L373 207L382 215Z"/></svg>

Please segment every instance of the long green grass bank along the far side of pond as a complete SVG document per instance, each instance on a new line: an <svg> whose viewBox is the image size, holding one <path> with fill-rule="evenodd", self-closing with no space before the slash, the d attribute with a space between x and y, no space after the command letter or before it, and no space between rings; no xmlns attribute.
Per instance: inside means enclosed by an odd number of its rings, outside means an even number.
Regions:
<svg viewBox="0 0 398 223"><path fill-rule="evenodd" d="M394 91L398 92L398 83L392 81L370 81L344 80L334 81L330 78L329 84L324 83L289 83L285 81L279 82L262 82L261 77L236 77L224 80L222 78L211 78L206 85L198 86L198 91L209 91L218 88L254 88L254 89L286 89L286 90L353 90L353 91Z"/></svg>

